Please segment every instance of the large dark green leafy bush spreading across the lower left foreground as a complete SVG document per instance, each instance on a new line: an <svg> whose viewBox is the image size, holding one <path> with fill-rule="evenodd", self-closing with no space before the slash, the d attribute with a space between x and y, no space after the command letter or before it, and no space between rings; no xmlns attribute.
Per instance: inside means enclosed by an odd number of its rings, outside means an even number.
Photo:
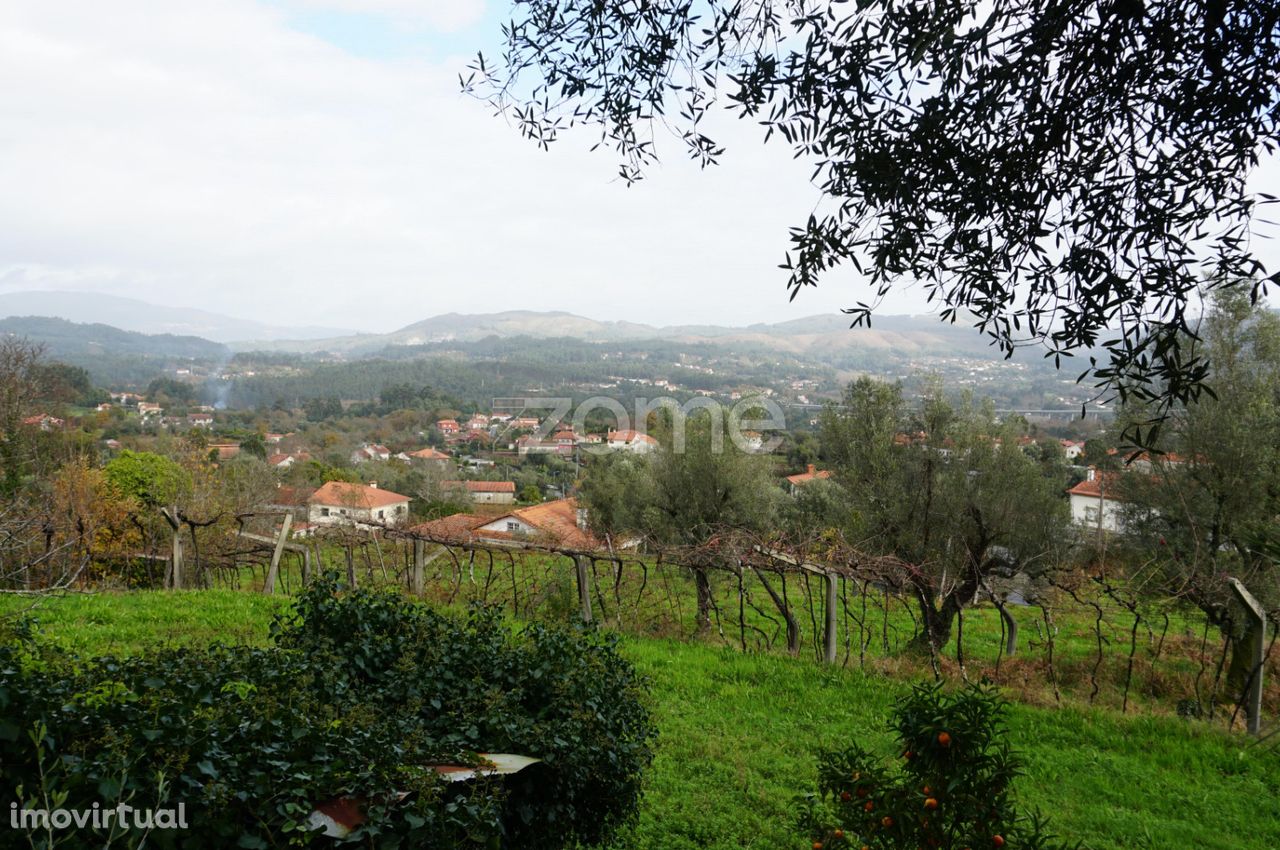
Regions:
<svg viewBox="0 0 1280 850"><path fill-rule="evenodd" d="M145 836L159 847L328 846L307 818L339 796L365 809L352 840L378 847L593 845L636 810L654 728L611 639L511 631L485 609L445 617L333 576L273 638L84 661L12 635L0 645L3 785L36 809L184 803L192 828ZM476 764L476 753L541 764L470 782L429 767ZM108 832L52 837L101 847Z"/></svg>

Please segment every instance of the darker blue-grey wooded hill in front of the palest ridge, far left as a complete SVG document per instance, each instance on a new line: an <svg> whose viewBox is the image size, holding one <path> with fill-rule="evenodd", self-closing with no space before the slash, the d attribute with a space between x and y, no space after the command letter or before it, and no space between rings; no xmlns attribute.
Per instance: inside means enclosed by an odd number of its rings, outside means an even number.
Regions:
<svg viewBox="0 0 1280 850"><path fill-rule="evenodd" d="M225 360L230 349L200 337L140 334L104 324L77 324L46 316L0 319L0 333L45 343L50 357L79 362L105 356Z"/></svg>

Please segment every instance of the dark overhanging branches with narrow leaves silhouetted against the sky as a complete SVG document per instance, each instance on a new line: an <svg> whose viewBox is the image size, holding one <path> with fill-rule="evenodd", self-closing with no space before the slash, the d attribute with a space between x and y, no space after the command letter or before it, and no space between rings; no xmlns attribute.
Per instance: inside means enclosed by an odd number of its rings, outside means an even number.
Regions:
<svg viewBox="0 0 1280 850"><path fill-rule="evenodd" d="M1266 274L1247 178L1280 141L1267 0L526 0L503 36L463 88L541 146L594 125L625 180L658 125L716 163L717 101L785 140L822 196L791 232L792 297L850 264L873 291L855 324L919 280L1006 353L1101 343L1085 374L1158 413L1207 375L1183 351L1203 274L1253 297Z"/></svg>

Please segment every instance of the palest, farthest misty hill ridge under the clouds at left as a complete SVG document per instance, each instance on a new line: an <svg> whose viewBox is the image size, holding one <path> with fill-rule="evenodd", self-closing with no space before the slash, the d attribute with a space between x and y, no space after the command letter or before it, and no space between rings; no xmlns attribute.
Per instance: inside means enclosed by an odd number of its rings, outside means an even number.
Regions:
<svg viewBox="0 0 1280 850"><path fill-rule="evenodd" d="M165 307L95 292L0 293L0 316L56 316L68 321L105 323L143 334L204 337L214 342L236 339L314 339L352 333L343 328L285 326L195 310Z"/></svg>

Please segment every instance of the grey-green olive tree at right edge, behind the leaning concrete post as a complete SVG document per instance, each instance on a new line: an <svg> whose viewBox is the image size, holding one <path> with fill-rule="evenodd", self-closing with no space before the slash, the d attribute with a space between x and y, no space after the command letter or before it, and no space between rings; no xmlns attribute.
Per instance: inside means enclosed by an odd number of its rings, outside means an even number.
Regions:
<svg viewBox="0 0 1280 850"><path fill-rule="evenodd" d="M1153 553L1166 588L1196 603L1231 645L1228 685L1252 671L1252 623L1226 577L1280 613L1280 315L1222 293L1201 328L1212 398L1176 411L1161 447L1119 479L1126 533ZM1137 413L1142 417L1143 413Z"/></svg>

